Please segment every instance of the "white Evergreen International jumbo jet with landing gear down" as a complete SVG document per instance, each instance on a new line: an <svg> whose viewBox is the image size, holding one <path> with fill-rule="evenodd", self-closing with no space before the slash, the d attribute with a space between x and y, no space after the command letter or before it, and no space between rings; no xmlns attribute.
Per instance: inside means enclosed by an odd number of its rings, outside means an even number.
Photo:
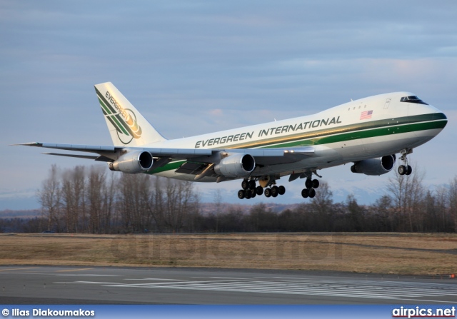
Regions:
<svg viewBox="0 0 457 319"><path fill-rule="evenodd" d="M235 128L188 138L166 139L111 83L95 85L113 146L59 143L16 145L94 153L46 153L108 163L111 171L147 173L184 181L242 179L238 198L286 192L278 181L306 178L303 198L316 196L323 168L353 163L353 173L378 176L403 162L400 175L412 172L407 156L446 126L437 108L410 92L386 93L349 101L316 114Z"/></svg>

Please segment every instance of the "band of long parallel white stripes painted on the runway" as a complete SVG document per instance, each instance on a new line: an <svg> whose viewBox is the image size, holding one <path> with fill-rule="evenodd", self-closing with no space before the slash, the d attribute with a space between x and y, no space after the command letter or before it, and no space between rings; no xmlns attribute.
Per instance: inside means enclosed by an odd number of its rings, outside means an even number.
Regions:
<svg viewBox="0 0 457 319"><path fill-rule="evenodd" d="M196 278L196 277L192 277ZM159 283L102 283L76 281L104 287L149 288L176 290L206 290L233 293L269 293L285 295L321 295L338 298L372 298L448 303L441 297L457 296L457 285L444 283L413 283L384 280L327 280L313 278L233 278L206 277L206 280L179 280L171 278L142 278L124 280L160 280ZM68 283L67 283L68 284ZM432 298L436 298L433 300ZM430 300L432 299L432 300Z"/></svg>

